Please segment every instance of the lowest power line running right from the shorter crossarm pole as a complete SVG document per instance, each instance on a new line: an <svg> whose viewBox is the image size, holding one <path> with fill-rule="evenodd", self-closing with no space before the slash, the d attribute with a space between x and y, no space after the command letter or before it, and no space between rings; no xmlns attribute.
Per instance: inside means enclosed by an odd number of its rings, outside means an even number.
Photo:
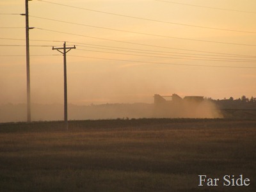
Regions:
<svg viewBox="0 0 256 192"><path fill-rule="evenodd" d="M181 63L161 63L161 62L150 62L150 61L136 61L136 60L117 60L117 59L109 59L109 58L96 58L89 56L76 56L70 55L72 57L77 58L90 58L95 60L111 60L111 61L127 61L134 63L150 63L150 64L158 64L158 65L180 65L180 66L189 66L189 67L218 67L218 68L256 68L256 67L236 67L236 66L223 66L223 65L194 65L194 64L181 64Z"/></svg>

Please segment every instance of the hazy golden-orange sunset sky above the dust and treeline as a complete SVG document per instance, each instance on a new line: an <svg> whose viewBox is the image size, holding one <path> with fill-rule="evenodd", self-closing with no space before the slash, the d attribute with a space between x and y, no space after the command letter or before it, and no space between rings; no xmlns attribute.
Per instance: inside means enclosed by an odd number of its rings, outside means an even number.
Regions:
<svg viewBox="0 0 256 192"><path fill-rule="evenodd" d="M31 102L256 97L254 0L29 1ZM0 104L26 103L25 1L0 2Z"/></svg>

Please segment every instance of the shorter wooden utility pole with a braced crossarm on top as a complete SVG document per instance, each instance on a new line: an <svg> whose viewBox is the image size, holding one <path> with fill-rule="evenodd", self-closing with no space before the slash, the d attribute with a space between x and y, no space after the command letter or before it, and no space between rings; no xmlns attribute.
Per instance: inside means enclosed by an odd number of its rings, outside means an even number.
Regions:
<svg viewBox="0 0 256 192"><path fill-rule="evenodd" d="M67 59L66 54L71 49L76 49L76 46L74 47L66 47L66 42L64 42L63 47L54 48L52 47L52 50L57 50L63 54L64 57L64 121L66 124L66 128L68 129L68 101L67 101ZM60 51L63 50L63 51Z"/></svg>

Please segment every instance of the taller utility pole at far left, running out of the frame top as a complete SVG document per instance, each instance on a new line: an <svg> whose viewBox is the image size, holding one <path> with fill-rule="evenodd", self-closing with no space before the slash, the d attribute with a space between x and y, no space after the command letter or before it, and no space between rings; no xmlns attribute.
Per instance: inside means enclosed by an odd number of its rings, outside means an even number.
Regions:
<svg viewBox="0 0 256 192"><path fill-rule="evenodd" d="M30 98L30 61L29 61L29 15L28 15L28 1L25 0L26 13L20 14L26 16L26 68L27 68L27 121L31 122L31 98Z"/></svg>

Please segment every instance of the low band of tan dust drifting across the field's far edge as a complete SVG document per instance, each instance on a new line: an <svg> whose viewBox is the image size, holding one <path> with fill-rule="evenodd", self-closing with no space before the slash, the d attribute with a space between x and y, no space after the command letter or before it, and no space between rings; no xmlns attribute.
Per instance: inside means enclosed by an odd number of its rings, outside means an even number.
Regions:
<svg viewBox="0 0 256 192"><path fill-rule="evenodd" d="M31 104L33 121L63 120L62 104ZM208 101L164 102L161 104L68 104L68 120L116 118L222 118L216 106ZM0 105L0 123L26 122L26 104Z"/></svg>

